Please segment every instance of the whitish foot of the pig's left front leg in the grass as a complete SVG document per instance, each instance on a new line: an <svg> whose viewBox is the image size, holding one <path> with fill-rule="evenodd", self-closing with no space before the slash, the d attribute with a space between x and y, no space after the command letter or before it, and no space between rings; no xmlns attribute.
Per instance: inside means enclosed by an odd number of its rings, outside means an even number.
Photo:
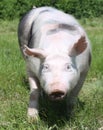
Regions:
<svg viewBox="0 0 103 130"><path fill-rule="evenodd" d="M34 108L28 109L28 121L37 122L39 120L38 110Z"/></svg>

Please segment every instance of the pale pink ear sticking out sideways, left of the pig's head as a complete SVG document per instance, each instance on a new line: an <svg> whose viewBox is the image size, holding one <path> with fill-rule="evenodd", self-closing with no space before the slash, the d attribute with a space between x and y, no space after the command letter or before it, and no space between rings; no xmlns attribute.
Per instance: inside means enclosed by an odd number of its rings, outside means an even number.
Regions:
<svg viewBox="0 0 103 130"><path fill-rule="evenodd" d="M40 59L44 59L47 57L47 54L45 53L44 50L42 49L32 49L32 48L29 48L27 47L26 45L24 45L24 50L23 50L24 54L27 55L27 56L34 56L34 57L37 57L37 58L40 58Z"/></svg>

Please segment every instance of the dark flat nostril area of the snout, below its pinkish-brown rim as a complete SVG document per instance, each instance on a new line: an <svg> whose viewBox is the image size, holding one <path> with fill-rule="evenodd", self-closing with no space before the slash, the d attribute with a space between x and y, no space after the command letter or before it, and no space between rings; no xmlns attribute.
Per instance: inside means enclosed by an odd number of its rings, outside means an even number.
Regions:
<svg viewBox="0 0 103 130"><path fill-rule="evenodd" d="M65 93L62 92L62 91L60 91L60 92L52 92L52 93L50 94L50 98L51 98L52 100L60 100L60 99L63 99L64 96L65 96Z"/></svg>

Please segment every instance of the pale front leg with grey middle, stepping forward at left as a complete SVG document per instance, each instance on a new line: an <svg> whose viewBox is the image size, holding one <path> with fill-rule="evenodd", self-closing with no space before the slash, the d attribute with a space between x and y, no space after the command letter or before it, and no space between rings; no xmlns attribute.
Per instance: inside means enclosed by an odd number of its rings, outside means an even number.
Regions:
<svg viewBox="0 0 103 130"><path fill-rule="evenodd" d="M38 96L39 90L36 80L33 77L29 77L30 84L30 101L28 107L28 118L32 120L38 120Z"/></svg>

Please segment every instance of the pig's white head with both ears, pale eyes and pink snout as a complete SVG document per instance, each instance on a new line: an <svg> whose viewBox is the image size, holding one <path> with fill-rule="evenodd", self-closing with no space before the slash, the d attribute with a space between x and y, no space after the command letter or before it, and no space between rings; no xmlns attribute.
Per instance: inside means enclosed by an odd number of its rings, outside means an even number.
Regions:
<svg viewBox="0 0 103 130"><path fill-rule="evenodd" d="M30 49L25 46L25 53L41 59L40 83L45 93L52 100L62 100L76 86L80 72L75 57L87 47L85 37L81 37L68 54L47 54L42 49Z"/></svg>

